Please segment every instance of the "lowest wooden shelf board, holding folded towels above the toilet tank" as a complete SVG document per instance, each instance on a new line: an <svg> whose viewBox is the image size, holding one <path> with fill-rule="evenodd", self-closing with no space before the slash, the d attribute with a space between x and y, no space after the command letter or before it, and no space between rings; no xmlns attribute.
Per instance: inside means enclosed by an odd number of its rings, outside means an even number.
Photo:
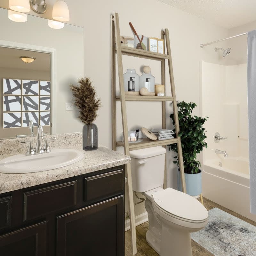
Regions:
<svg viewBox="0 0 256 256"><path fill-rule="evenodd" d="M169 140L149 140L143 139L141 142L138 143L129 143L130 150L142 149L142 148L151 148L156 146L164 146L169 144L178 143L178 139L169 139ZM124 147L123 141L117 141L116 146Z"/></svg>

